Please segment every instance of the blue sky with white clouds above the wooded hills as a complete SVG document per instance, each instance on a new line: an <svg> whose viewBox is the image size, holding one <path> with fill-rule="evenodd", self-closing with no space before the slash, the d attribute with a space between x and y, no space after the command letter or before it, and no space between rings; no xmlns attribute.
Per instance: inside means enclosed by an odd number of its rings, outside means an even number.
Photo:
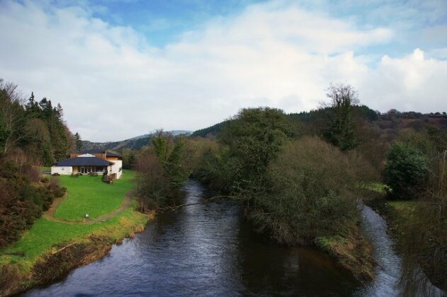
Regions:
<svg viewBox="0 0 447 297"><path fill-rule="evenodd" d="M447 111L446 0L0 0L0 28L0 78L90 141L308 111L330 83Z"/></svg>

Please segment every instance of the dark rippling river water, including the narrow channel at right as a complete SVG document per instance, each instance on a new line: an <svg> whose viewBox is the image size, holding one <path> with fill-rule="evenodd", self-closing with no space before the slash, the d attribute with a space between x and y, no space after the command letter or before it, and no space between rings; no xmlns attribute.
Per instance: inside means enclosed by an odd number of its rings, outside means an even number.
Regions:
<svg viewBox="0 0 447 297"><path fill-rule="evenodd" d="M184 192L183 203L207 197L193 180ZM238 204L225 201L159 214L102 260L25 296L395 296L400 260L389 238L378 236L386 225L369 208L362 216L374 248L385 249L375 250L385 262L372 284L358 283L322 252L270 243L251 231Z"/></svg>

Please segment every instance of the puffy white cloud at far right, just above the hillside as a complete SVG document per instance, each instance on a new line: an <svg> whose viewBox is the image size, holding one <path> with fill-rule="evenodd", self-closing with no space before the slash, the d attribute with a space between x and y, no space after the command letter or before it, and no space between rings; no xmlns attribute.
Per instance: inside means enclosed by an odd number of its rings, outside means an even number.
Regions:
<svg viewBox="0 0 447 297"><path fill-rule="evenodd" d="M400 59L383 57L363 80L363 101L379 110L446 111L447 61L419 49Z"/></svg>

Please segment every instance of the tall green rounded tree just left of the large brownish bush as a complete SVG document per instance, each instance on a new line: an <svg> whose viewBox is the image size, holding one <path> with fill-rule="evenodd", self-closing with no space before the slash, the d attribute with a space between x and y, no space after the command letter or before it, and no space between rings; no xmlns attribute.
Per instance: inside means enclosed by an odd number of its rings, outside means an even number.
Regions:
<svg viewBox="0 0 447 297"><path fill-rule="evenodd" d="M282 110L269 107L243 109L225 124L219 140L229 149L234 189L252 196L263 191L268 164L297 131Z"/></svg>

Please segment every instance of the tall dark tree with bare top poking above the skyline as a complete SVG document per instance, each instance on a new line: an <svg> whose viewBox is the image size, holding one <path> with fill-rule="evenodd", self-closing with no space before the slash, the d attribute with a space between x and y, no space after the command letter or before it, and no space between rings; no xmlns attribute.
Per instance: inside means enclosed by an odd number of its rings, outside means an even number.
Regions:
<svg viewBox="0 0 447 297"><path fill-rule="evenodd" d="M331 103L324 138L341 151L349 151L357 146L352 120L353 105L358 105L359 102L357 91L346 83L331 83L326 91Z"/></svg>

